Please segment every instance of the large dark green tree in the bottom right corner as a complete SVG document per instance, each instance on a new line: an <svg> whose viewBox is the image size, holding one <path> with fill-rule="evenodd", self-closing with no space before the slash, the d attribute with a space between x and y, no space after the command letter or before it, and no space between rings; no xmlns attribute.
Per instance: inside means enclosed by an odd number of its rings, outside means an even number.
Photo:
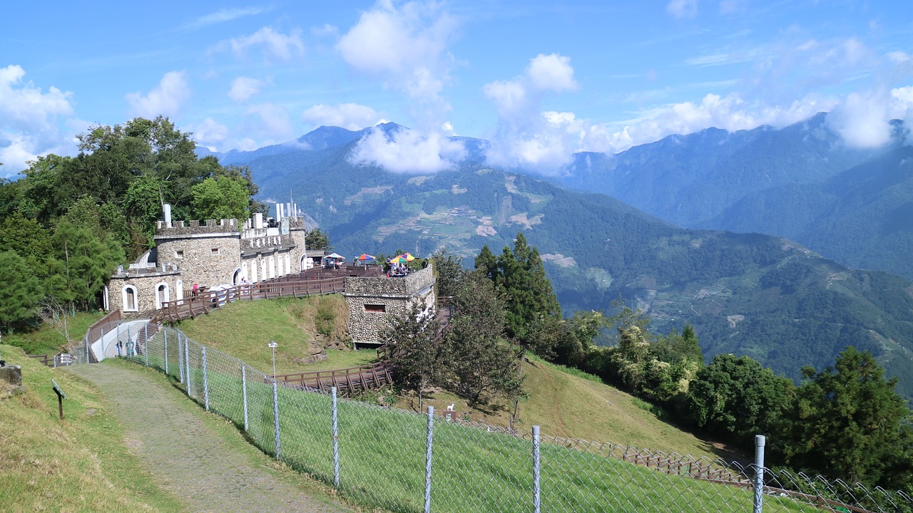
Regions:
<svg viewBox="0 0 913 513"><path fill-rule="evenodd" d="M791 428L782 450L786 464L867 486L913 483L913 428L897 378L867 351L847 347L834 367L803 368Z"/></svg>

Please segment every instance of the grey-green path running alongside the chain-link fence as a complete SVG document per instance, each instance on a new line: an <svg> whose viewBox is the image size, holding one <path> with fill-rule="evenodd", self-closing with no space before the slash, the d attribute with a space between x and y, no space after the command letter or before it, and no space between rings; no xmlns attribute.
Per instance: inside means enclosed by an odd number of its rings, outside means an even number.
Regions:
<svg viewBox="0 0 913 513"><path fill-rule="evenodd" d="M229 443L205 412L171 385L123 365L74 365L94 382L126 426L131 453L189 511L340 512L349 508L309 497L251 445Z"/></svg>

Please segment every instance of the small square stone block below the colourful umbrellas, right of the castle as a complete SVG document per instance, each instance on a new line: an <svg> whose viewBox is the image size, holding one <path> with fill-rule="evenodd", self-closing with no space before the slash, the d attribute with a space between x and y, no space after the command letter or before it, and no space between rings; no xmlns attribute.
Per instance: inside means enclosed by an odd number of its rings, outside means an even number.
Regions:
<svg viewBox="0 0 913 513"><path fill-rule="evenodd" d="M349 333L355 346L377 344L392 319L417 303L435 311L435 274L431 266L408 277L347 277L342 295L349 305Z"/></svg>

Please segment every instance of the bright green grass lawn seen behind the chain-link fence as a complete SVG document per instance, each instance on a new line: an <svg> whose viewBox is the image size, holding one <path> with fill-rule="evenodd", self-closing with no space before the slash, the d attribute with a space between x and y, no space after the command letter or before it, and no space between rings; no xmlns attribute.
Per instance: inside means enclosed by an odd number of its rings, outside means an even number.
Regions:
<svg viewBox="0 0 913 513"><path fill-rule="evenodd" d="M163 335L150 345L150 361L163 361ZM169 345L169 352L175 344ZM245 387L238 361L190 344L191 395L244 429ZM199 356L197 356L199 354ZM138 358L137 361L143 361ZM169 356L175 361L176 356ZM178 372L170 365L170 374ZM563 374L563 373L562 373ZM576 376L575 380L591 382ZM247 435L276 454L272 385L247 371ZM598 383L593 383L598 384ZM205 387L205 388L204 388ZM333 482L331 398L278 387L279 449L283 461L310 476ZM427 419L395 408L339 401L341 493L370 508L420 511L425 490ZM488 432L436 417L432 502L436 511L521 511L532 499L529 437ZM541 445L541 494L554 511L748 511L749 489L636 466L614 448L565 446L548 438ZM769 499L771 511L813 511L790 500ZM804 508L804 509L803 509Z"/></svg>

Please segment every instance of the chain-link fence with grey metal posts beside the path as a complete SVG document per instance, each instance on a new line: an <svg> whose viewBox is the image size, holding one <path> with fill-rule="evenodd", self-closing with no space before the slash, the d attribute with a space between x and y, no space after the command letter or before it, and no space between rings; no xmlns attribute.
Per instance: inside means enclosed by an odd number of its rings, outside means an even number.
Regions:
<svg viewBox="0 0 913 513"><path fill-rule="evenodd" d="M150 325L152 326L152 325ZM136 332L122 357L184 383L269 455L367 508L419 511L911 511L901 492L756 463L663 454L301 390L180 330ZM142 336L141 336L142 332ZM87 340L87 346L88 340ZM80 359L82 360L82 359ZM761 468L762 472L757 470Z"/></svg>

